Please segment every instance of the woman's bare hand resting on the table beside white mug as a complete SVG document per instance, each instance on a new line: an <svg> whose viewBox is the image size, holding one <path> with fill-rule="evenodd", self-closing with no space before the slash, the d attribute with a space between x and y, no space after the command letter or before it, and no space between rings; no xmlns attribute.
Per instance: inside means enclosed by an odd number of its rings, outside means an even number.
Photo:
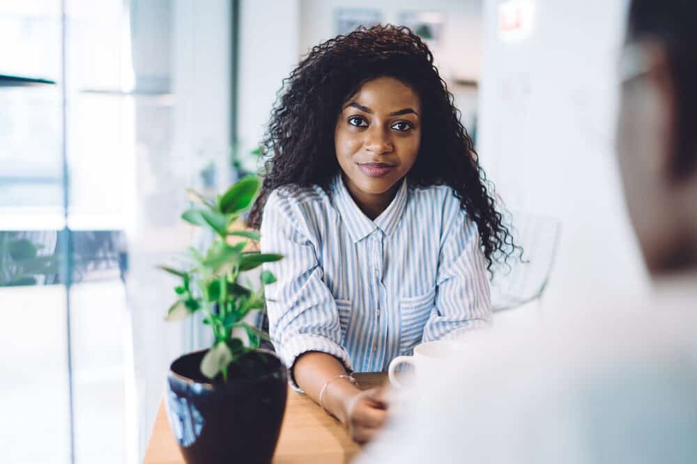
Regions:
<svg viewBox="0 0 697 464"><path fill-rule="evenodd" d="M365 390L346 403L346 425L358 443L373 440L388 418L388 398L384 387Z"/></svg>

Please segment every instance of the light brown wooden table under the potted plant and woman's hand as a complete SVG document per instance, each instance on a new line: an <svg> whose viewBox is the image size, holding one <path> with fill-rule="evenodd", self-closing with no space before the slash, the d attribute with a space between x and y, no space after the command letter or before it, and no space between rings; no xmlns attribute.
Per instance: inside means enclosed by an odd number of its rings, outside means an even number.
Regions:
<svg viewBox="0 0 697 464"><path fill-rule="evenodd" d="M384 372L356 373L362 390L385 381ZM344 426L311 399L288 389L286 415L281 426L273 464L344 464L360 451ZM164 403L146 449L143 464L183 464L176 438L169 429Z"/></svg>

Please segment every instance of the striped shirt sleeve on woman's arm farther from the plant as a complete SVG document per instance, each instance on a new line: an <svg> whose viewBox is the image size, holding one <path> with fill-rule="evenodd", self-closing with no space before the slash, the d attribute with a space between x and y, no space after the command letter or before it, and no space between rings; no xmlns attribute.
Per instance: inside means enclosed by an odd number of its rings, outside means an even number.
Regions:
<svg viewBox="0 0 697 464"><path fill-rule="evenodd" d="M424 327L424 342L457 338L491 325L491 291L477 225L459 202L443 233L438 259L436 307Z"/></svg>

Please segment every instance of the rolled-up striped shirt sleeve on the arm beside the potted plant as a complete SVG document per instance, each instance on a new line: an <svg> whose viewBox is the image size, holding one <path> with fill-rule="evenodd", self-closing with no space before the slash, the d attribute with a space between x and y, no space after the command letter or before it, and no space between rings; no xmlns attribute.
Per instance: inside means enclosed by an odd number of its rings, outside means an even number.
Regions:
<svg viewBox="0 0 697 464"><path fill-rule="evenodd" d="M280 253L284 258L266 263L277 281L266 286L269 332L277 353L291 369L298 356L321 351L335 356L347 370L351 360L342 346L339 312L334 297L323 282L323 269L316 255L305 209L292 197L273 192L264 207L261 222L262 253Z"/></svg>

